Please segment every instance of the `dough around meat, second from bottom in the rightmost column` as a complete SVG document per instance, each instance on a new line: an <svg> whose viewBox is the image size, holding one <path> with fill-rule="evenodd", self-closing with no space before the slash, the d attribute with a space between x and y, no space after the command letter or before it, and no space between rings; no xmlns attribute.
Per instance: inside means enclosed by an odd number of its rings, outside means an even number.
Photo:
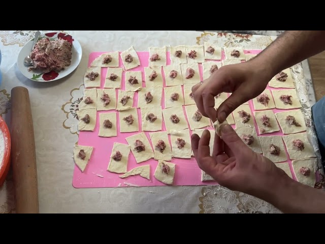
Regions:
<svg viewBox="0 0 325 244"><path fill-rule="evenodd" d="M314 149L308 140L306 132L282 136L282 138L283 138L286 150L288 151L290 160L316 157L316 155L314 153ZM293 141L296 139L300 139L304 143L304 149L302 149L301 151L298 150L296 146L294 146Z"/></svg>

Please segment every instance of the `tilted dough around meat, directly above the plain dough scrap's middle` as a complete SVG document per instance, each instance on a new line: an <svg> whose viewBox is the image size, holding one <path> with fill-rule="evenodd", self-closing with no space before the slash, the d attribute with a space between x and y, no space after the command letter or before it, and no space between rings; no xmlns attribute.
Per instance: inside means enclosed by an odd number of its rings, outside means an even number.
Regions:
<svg viewBox="0 0 325 244"><path fill-rule="evenodd" d="M144 132L135 134L133 136L126 137L125 140L131 146L131 151L136 159L137 164L145 162L149 159L153 159L153 157L154 157L153 150L152 150L150 142L149 142L146 134L144 134ZM140 151L139 153L137 152L137 150L135 149L136 140L142 141L142 143L145 145L144 151Z"/></svg>

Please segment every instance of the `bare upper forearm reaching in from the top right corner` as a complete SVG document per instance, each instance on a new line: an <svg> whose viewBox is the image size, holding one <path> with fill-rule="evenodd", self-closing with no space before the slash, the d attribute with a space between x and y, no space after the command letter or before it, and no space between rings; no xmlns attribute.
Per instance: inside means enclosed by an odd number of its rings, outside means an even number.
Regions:
<svg viewBox="0 0 325 244"><path fill-rule="evenodd" d="M325 31L286 31L251 62L268 67L274 76L323 50Z"/></svg>

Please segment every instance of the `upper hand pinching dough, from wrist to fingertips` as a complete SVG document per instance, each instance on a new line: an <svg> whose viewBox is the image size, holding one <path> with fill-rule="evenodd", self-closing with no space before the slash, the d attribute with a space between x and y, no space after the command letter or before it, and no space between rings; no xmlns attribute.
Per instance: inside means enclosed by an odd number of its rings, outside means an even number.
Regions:
<svg viewBox="0 0 325 244"><path fill-rule="evenodd" d="M202 84L194 85L192 93L200 112L213 123L217 118L222 123L238 106L261 94L274 74L256 60L223 66ZM223 92L233 94L216 111L214 97Z"/></svg>

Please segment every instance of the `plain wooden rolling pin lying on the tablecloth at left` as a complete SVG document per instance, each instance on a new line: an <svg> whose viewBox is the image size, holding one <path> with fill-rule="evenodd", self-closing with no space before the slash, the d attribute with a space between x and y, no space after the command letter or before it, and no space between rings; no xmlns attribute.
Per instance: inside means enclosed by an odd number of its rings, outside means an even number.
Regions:
<svg viewBox="0 0 325 244"><path fill-rule="evenodd" d="M11 163L18 214L38 214L39 197L34 128L28 90L11 90Z"/></svg>

